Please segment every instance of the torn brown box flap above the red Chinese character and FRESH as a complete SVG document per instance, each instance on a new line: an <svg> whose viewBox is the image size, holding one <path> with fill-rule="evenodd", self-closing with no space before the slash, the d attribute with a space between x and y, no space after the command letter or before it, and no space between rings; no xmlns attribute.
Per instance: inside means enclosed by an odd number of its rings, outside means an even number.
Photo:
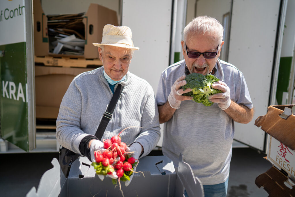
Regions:
<svg viewBox="0 0 295 197"><path fill-rule="evenodd" d="M291 111L292 107L294 105L271 105L266 115L255 120L255 125L261 126L263 131L295 150L295 115L282 115L285 108Z"/></svg>

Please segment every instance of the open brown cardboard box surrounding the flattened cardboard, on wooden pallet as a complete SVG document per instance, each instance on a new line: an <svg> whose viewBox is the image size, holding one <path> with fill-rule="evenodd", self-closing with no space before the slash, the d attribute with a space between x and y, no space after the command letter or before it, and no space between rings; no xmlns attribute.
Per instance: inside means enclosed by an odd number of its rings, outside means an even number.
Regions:
<svg viewBox="0 0 295 197"><path fill-rule="evenodd" d="M83 10L81 10L81 12L83 12ZM91 3L83 18L83 23L85 26L85 46L83 56L49 53L47 17L42 11L40 0L34 0L35 56L49 55L53 57L98 59L98 49L92 43L101 43L102 30L105 25L112 24L118 26L117 12L99 4Z"/></svg>

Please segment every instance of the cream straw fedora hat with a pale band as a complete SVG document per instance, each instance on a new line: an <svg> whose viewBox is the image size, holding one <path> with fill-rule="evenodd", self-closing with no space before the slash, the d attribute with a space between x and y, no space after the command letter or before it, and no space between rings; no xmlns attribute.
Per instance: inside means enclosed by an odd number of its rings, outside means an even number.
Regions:
<svg viewBox="0 0 295 197"><path fill-rule="evenodd" d="M92 43L94 46L109 45L117 46L123 48L130 48L132 50L138 50L138 47L133 45L131 40L132 32L127 26L114 26L105 25L102 30L102 40L101 43Z"/></svg>

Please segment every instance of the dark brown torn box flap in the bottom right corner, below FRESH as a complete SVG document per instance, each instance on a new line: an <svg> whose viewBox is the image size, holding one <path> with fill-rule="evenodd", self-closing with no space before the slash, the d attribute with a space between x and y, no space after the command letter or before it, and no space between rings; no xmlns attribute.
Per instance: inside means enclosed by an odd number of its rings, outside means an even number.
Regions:
<svg viewBox="0 0 295 197"><path fill-rule="evenodd" d="M255 184L260 188L263 186L269 196L295 196L295 186L292 189L284 182L288 177L281 173L276 167L271 167L255 179Z"/></svg>

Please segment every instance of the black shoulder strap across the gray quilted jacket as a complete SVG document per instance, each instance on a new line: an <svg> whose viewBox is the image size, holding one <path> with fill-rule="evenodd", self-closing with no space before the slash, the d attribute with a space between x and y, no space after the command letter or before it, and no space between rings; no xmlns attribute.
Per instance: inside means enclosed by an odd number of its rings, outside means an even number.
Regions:
<svg viewBox="0 0 295 197"><path fill-rule="evenodd" d="M119 97L123 91L124 86L122 86L121 84L118 84L114 95L109 103L108 108L106 109L106 111L104 112L104 115L99 123L99 126L96 130L95 136L101 140L101 137L104 134L104 130L106 129L106 126L108 125L110 119L112 118L113 112L115 110L116 104L119 100Z"/></svg>

